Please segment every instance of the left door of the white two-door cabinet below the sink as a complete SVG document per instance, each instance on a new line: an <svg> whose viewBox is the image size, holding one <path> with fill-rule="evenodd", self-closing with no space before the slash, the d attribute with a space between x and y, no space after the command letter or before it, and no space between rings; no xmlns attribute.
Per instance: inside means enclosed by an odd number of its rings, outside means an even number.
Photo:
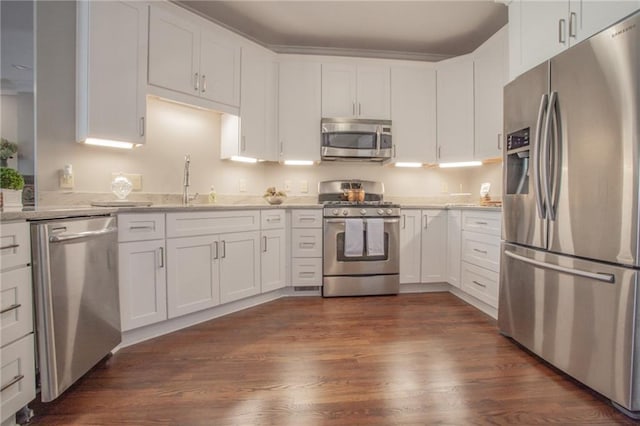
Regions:
<svg viewBox="0 0 640 426"><path fill-rule="evenodd" d="M220 303L217 236L167 240L167 306L169 318Z"/></svg>

